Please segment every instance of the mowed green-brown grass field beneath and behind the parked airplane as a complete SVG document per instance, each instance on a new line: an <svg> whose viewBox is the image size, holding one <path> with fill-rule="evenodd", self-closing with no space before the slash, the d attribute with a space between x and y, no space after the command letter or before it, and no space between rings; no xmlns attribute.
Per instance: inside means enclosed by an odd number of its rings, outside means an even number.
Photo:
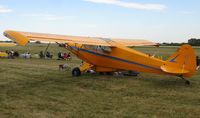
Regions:
<svg viewBox="0 0 200 118"><path fill-rule="evenodd" d="M46 45L0 48L38 53ZM176 47L139 47L167 59ZM54 55L67 52L52 45ZM195 49L200 55L200 49ZM58 65L71 67L72 61L44 59L0 59L0 117L14 118L160 118L200 117L200 72L190 78L191 85L177 77L141 73L138 77L72 77L71 71L59 71Z"/></svg>

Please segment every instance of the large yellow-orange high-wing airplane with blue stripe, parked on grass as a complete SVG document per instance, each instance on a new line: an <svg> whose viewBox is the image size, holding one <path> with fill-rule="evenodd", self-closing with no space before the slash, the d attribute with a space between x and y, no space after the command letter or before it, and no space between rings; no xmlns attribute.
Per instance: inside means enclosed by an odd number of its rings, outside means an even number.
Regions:
<svg viewBox="0 0 200 118"><path fill-rule="evenodd" d="M190 45L181 46L168 60L136 51L129 46L156 45L146 40L64 36L7 30L4 36L25 46L29 41L57 42L84 61L72 70L73 76L93 69L96 72L135 71L178 76L185 79L196 73L197 60Z"/></svg>

